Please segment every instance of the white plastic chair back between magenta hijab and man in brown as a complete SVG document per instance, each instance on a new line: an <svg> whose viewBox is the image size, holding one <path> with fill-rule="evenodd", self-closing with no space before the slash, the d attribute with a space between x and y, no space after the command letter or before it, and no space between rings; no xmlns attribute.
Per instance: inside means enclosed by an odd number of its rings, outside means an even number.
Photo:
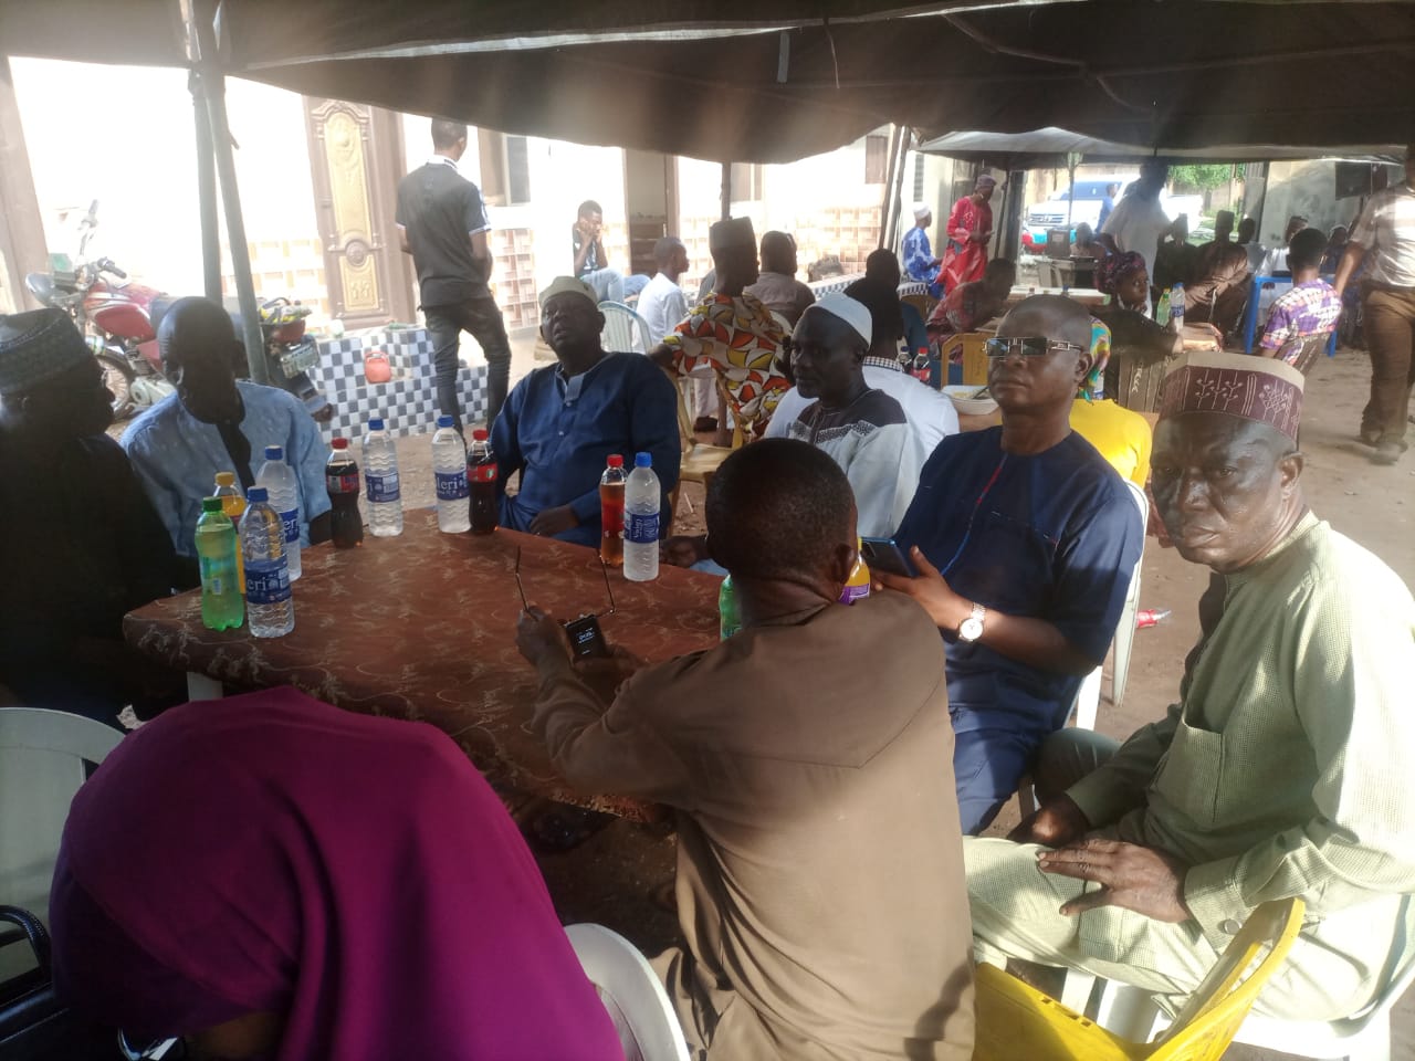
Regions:
<svg viewBox="0 0 1415 1061"><path fill-rule="evenodd" d="M688 1061L674 1004L638 948L604 925L566 925L565 934L614 1020L624 1061Z"/></svg>

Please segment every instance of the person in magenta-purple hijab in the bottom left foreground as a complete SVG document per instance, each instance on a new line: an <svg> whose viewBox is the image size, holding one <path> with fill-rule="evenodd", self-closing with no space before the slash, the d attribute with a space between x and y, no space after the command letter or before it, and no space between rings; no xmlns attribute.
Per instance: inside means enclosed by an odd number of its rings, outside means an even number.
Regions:
<svg viewBox="0 0 1415 1061"><path fill-rule="evenodd" d="M64 829L54 980L130 1041L275 1061L621 1061L501 802L430 726L175 707Z"/></svg>

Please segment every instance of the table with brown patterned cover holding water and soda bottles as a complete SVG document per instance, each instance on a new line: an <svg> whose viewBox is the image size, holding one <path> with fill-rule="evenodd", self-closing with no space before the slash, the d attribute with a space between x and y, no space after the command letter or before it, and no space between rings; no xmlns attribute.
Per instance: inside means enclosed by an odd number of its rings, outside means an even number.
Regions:
<svg viewBox="0 0 1415 1061"><path fill-rule="evenodd" d="M518 546L526 596L558 618L597 613L606 638L651 661L717 644L712 576L664 566L657 581L631 583L611 570L617 610L604 615L594 550L505 529L444 535L423 509L406 514L398 538L304 550L283 638L207 630L195 590L130 613L123 635L242 692L293 685L337 707L432 723L492 785L642 818L634 801L572 794L531 731L536 676L515 647Z"/></svg>

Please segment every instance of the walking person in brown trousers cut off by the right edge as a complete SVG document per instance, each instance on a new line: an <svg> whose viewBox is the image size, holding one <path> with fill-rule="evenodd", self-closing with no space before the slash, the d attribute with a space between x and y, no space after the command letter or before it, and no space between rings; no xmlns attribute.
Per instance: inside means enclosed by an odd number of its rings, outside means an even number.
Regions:
<svg viewBox="0 0 1415 1061"><path fill-rule="evenodd" d="M1361 412L1361 441L1375 447L1373 463L1395 464L1405 453L1415 383L1415 144L1405 150L1405 182L1373 195L1351 229L1336 270L1337 294L1363 265L1371 400Z"/></svg>

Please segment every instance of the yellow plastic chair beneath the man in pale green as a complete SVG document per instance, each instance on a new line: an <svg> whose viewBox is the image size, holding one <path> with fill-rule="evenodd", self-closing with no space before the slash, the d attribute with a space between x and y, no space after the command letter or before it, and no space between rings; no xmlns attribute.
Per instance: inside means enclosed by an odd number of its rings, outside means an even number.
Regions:
<svg viewBox="0 0 1415 1061"><path fill-rule="evenodd" d="M1298 938L1302 911L1300 898L1254 910L1155 1043L1121 1038L1002 969L979 965L974 1061L1218 1061Z"/></svg>

